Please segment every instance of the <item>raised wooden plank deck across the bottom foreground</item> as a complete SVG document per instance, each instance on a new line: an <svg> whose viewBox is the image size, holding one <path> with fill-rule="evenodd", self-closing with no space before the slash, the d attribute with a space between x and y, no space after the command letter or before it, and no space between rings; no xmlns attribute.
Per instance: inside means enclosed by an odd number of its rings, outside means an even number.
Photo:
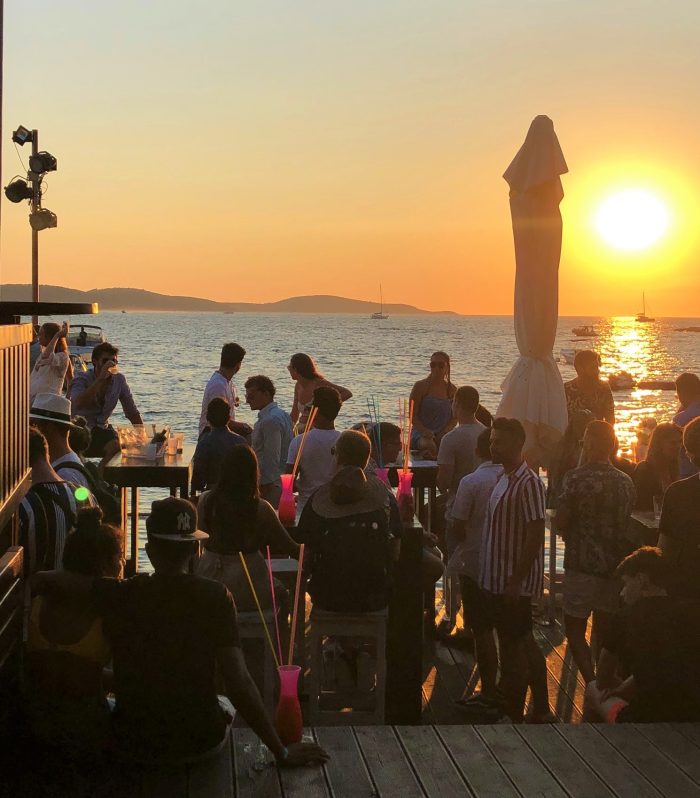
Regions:
<svg viewBox="0 0 700 798"><path fill-rule="evenodd" d="M358 726L307 730L323 768L278 771L234 731L237 798L690 798L700 724Z"/></svg>

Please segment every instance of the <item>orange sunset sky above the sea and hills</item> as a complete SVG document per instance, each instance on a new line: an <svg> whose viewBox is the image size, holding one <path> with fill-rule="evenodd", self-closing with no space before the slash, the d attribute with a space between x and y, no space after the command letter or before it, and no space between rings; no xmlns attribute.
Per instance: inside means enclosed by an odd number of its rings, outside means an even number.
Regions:
<svg viewBox="0 0 700 798"><path fill-rule="evenodd" d="M697 0L5 0L2 185L38 129L43 283L510 313L502 174L547 114L562 315L700 316L698 29ZM629 189L668 217L646 249L595 225ZM1 201L0 281L29 282Z"/></svg>

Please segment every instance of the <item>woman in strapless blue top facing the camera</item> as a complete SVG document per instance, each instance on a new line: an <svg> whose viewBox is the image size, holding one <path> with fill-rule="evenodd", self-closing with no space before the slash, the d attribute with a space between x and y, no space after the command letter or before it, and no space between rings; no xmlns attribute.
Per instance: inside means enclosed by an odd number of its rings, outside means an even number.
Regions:
<svg viewBox="0 0 700 798"><path fill-rule="evenodd" d="M422 457L434 460L442 436L457 423L452 415L452 400L457 386L450 379L450 356L433 352L430 373L411 389L413 400L413 431L411 448Z"/></svg>

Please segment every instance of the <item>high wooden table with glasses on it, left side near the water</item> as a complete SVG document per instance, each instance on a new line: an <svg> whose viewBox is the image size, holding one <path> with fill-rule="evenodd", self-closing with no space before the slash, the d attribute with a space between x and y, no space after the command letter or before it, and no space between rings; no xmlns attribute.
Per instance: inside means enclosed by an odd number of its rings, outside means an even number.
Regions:
<svg viewBox="0 0 700 798"><path fill-rule="evenodd" d="M156 461L123 458L121 454L115 454L105 466L105 480L119 488L122 529L125 534L128 530L126 491L127 488L131 489L131 541L129 559L124 568L125 575L133 576L138 571L139 488L169 488L171 496L175 496L179 490L180 496L186 499L190 490L194 450L193 444L185 444L181 454L166 454L165 457Z"/></svg>

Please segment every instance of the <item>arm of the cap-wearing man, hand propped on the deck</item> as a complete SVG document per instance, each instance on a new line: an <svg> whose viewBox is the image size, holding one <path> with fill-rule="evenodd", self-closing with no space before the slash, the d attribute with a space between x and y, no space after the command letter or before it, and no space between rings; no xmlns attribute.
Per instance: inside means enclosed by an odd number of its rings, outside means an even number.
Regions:
<svg viewBox="0 0 700 798"><path fill-rule="evenodd" d="M226 692L231 703L253 732L270 749L279 765L300 767L328 761L328 754L315 743L295 743L287 748L282 745L238 646L218 648L216 661L226 682Z"/></svg>

